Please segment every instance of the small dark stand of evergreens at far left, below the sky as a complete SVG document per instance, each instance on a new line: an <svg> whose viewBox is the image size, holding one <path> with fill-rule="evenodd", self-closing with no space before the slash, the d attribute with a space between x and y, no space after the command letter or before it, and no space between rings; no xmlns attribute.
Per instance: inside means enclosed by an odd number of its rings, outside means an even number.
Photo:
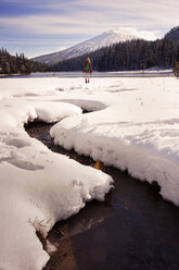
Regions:
<svg viewBox="0 0 179 270"><path fill-rule="evenodd" d="M30 61L24 53L11 56L5 49L0 49L0 74L30 74L46 71L49 71L49 68L44 63Z"/></svg>

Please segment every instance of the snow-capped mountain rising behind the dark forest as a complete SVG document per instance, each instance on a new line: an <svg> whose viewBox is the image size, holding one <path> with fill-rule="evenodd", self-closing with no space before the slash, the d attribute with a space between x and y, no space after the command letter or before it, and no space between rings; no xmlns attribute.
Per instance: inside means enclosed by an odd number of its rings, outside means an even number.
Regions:
<svg viewBox="0 0 179 270"><path fill-rule="evenodd" d="M73 46L68 49L65 49L59 52L53 52L53 53L46 54L46 56L41 56L41 57L37 57L37 58L34 58L33 60L44 62L48 64L53 64L62 60L66 60L66 59L82 56L85 53L89 53L91 51L98 50L102 47L110 46L115 42L131 40L135 38L136 37L133 35L124 34L124 32L111 29L91 39L88 39L84 42Z"/></svg>

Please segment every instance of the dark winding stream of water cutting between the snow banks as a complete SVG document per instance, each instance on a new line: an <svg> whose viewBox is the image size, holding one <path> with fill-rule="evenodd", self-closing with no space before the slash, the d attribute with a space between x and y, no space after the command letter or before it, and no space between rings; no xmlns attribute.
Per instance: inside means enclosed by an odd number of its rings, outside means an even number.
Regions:
<svg viewBox="0 0 179 270"><path fill-rule="evenodd" d="M26 131L53 151L94 164L91 158L55 146L50 127L31 123ZM114 179L114 188L104 202L89 202L54 225L48 237L57 250L44 270L178 270L179 208L127 172L105 172Z"/></svg>

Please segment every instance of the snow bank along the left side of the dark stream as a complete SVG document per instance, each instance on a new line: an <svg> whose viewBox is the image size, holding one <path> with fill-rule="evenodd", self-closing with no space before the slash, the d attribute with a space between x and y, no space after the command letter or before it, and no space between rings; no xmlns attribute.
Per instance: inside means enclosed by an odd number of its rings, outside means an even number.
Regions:
<svg viewBox="0 0 179 270"><path fill-rule="evenodd" d="M104 200L112 179L50 151L23 128L36 118L53 122L79 115L80 108L51 96L49 101L11 98L12 88L0 101L0 269L39 270L50 257L36 232L46 240L56 221L77 213L86 201ZM53 248L47 243L47 249Z"/></svg>

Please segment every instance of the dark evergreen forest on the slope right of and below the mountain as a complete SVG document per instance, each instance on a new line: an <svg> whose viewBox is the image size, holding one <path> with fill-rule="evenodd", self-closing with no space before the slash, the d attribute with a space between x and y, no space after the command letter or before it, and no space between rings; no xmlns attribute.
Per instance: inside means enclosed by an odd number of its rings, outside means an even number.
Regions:
<svg viewBox="0 0 179 270"><path fill-rule="evenodd" d="M61 61L50 66L51 71L80 71L87 56ZM102 48L88 54L97 71L132 71L161 66L172 68L179 60L179 41L133 39Z"/></svg>

